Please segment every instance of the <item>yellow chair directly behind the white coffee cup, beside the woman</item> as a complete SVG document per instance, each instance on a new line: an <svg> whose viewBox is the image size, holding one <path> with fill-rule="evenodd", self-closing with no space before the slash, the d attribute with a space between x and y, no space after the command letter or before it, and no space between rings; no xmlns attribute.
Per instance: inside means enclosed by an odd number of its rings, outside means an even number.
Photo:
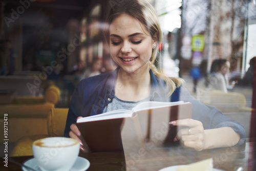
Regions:
<svg viewBox="0 0 256 171"><path fill-rule="evenodd" d="M35 140L47 137L63 137L68 108L52 108L47 118L47 135L26 136L17 141L10 156L32 156L32 144Z"/></svg>

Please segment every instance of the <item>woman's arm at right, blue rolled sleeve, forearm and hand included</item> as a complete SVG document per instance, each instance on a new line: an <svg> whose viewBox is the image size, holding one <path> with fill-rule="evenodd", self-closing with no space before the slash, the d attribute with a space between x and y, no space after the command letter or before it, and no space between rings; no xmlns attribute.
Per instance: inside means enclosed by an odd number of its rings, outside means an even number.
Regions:
<svg viewBox="0 0 256 171"><path fill-rule="evenodd" d="M192 119L176 121L175 124L190 128L190 135L188 135L188 128L182 129L178 132L176 140L184 140L186 146L194 147L199 151L244 143L245 130L239 122L225 117L213 106L206 106L199 102L190 96L185 88L181 89L181 100L192 103Z"/></svg>

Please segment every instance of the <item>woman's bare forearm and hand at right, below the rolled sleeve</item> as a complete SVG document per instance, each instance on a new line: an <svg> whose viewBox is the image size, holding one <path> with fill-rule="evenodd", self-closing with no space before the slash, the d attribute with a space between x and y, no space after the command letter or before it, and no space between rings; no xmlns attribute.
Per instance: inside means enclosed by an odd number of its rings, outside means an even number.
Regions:
<svg viewBox="0 0 256 171"><path fill-rule="evenodd" d="M240 140L240 135L228 126L204 130L202 122L194 119L172 121L170 124L188 126L177 133L175 141L180 139L185 146L197 151L233 146Z"/></svg>

